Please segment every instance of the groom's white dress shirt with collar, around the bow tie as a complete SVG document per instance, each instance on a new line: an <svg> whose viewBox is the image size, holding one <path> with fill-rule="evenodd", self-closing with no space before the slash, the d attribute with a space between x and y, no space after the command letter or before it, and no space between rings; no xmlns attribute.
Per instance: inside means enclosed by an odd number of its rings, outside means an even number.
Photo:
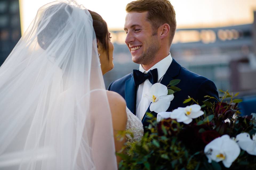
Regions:
<svg viewBox="0 0 256 170"><path fill-rule="evenodd" d="M173 58L171 57L171 54L167 57L165 57L163 60L156 63L153 67L151 67L149 70L157 69L158 73L158 83L161 82L163 76L165 75L167 69L169 68L171 62L173 61ZM147 73L149 70L145 70L142 65L139 65L139 71L142 73ZM147 108L150 105L150 101L146 98L146 93L149 91L150 87L153 84L149 82L148 79L145 80L145 82L141 83L137 88L137 97L136 97L136 116L142 120L144 114L147 111Z"/></svg>

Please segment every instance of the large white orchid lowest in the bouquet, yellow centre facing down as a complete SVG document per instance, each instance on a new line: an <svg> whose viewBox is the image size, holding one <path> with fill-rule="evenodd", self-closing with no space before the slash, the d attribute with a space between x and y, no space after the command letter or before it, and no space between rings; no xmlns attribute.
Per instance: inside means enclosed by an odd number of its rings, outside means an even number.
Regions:
<svg viewBox="0 0 256 170"><path fill-rule="evenodd" d="M229 168L239 156L240 148L234 140L230 139L229 135L223 135L208 143L204 152L209 163L212 160L215 162L222 161L223 165Z"/></svg>

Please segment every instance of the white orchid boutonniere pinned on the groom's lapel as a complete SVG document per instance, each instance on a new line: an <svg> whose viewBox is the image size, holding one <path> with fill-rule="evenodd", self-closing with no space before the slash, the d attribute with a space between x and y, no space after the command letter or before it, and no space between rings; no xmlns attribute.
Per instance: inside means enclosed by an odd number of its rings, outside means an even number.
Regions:
<svg viewBox="0 0 256 170"><path fill-rule="evenodd" d="M156 113L165 112L174 99L174 95L168 95L167 87L161 83L153 84L145 95L152 102L149 107L150 111Z"/></svg>

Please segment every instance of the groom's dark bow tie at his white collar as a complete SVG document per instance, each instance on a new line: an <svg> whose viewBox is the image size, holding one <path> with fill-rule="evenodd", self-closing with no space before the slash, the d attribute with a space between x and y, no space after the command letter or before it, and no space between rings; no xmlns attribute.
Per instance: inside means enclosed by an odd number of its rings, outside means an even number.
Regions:
<svg viewBox="0 0 256 170"><path fill-rule="evenodd" d="M133 70L133 79L135 86L145 82L146 79L149 79L151 84L155 84L158 80L157 69L149 70L149 72L146 74L139 70Z"/></svg>

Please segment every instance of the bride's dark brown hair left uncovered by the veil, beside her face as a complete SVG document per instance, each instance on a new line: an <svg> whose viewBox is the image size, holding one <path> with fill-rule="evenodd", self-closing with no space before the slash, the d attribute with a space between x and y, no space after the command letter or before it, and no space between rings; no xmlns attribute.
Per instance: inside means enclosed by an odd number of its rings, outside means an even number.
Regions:
<svg viewBox="0 0 256 170"><path fill-rule="evenodd" d="M103 48L106 50L107 58L109 60L109 43L108 43L108 29L107 23L103 18L94 11L88 10L93 18L93 28L96 38L101 42Z"/></svg>

